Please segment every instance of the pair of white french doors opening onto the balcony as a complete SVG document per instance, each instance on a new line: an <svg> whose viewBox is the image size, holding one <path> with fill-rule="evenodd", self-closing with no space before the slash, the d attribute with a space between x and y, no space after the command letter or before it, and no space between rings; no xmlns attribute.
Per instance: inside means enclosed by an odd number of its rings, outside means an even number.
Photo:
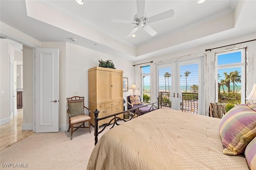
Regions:
<svg viewBox="0 0 256 170"><path fill-rule="evenodd" d="M204 57L157 65L160 107L201 114L204 110Z"/></svg>

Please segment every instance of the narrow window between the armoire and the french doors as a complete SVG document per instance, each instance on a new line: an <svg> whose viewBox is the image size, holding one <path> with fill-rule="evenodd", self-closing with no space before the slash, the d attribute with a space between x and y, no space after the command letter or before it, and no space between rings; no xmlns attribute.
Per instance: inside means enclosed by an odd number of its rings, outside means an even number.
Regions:
<svg viewBox="0 0 256 170"><path fill-rule="evenodd" d="M141 67L142 101L150 103L150 66Z"/></svg>

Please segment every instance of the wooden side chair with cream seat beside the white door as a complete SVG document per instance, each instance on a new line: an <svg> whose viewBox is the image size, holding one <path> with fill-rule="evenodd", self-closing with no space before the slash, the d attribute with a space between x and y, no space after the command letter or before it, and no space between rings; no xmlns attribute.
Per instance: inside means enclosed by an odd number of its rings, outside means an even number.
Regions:
<svg viewBox="0 0 256 170"><path fill-rule="evenodd" d="M89 132L91 133L91 117L90 117L90 109L88 107L84 106L84 97L80 96L74 96L71 98L67 98L68 100L68 131L70 130L71 127L71 137L70 140L73 139L73 132L76 131L79 127L83 125L81 128L89 128ZM85 114L84 109L87 109L88 115ZM84 123L88 122L89 126L85 127ZM80 126L75 127L76 129L74 130L74 125L80 124ZM73 131L74 130L74 131Z"/></svg>

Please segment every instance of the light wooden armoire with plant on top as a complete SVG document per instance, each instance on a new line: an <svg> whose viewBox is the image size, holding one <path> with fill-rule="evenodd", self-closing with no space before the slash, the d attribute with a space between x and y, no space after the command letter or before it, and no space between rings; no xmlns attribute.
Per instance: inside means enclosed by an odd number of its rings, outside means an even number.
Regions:
<svg viewBox="0 0 256 170"><path fill-rule="evenodd" d="M88 70L89 109L94 125L95 109L98 117L123 111L123 71L113 68L93 67ZM118 115L123 118L123 114ZM98 122L98 126L108 123L113 117Z"/></svg>

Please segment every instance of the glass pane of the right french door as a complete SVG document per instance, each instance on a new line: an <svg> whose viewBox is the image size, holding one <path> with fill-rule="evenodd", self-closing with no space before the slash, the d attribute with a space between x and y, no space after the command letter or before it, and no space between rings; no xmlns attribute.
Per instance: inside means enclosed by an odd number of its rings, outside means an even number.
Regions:
<svg viewBox="0 0 256 170"><path fill-rule="evenodd" d="M189 113L198 113L198 64L180 66L180 91L182 92L180 109Z"/></svg>

